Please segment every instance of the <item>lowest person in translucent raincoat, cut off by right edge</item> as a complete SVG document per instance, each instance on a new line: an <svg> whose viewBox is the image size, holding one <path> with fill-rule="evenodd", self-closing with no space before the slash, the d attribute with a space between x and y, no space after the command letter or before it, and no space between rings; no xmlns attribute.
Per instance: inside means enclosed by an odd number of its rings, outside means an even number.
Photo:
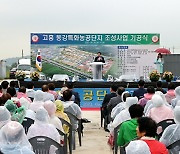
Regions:
<svg viewBox="0 0 180 154"><path fill-rule="evenodd" d="M168 126L160 138L160 141L164 143L166 147L180 140L180 106L174 108L174 121L176 124ZM169 152L170 154L176 154L179 151L171 149Z"/></svg>

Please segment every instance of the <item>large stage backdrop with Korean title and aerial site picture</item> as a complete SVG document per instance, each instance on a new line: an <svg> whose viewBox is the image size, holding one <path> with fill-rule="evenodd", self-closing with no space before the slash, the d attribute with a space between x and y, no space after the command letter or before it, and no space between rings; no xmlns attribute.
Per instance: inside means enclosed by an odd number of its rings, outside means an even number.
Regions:
<svg viewBox="0 0 180 154"><path fill-rule="evenodd" d="M148 76L155 69L159 34L54 34L31 33L31 59L35 67L41 53L42 71L50 76L63 74L92 78L92 66L97 52L105 58L103 77L112 75ZM46 64L46 65L45 65ZM49 72L47 71L49 70ZM49 73L49 74L48 74Z"/></svg>

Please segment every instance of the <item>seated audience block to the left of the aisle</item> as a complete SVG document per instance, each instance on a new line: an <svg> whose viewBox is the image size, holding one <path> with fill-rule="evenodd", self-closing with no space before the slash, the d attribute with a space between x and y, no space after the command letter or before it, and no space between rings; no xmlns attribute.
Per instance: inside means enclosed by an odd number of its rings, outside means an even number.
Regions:
<svg viewBox="0 0 180 154"><path fill-rule="evenodd" d="M0 85L0 153L33 154L29 139L36 136L49 137L63 145L64 137L58 130L69 135L69 127L62 125L60 118L70 123L68 112L82 118L80 97L73 91L73 84L67 83L60 92L55 91L53 83L36 91L33 82L18 90L15 86L14 81L2 81ZM25 118L34 120L27 134L22 126ZM77 122L71 124L77 129Z"/></svg>

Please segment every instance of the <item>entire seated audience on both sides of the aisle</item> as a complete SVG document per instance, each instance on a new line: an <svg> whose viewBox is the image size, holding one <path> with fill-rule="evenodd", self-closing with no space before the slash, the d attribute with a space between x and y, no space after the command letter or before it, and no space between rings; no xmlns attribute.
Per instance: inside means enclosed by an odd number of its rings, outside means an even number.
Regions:
<svg viewBox="0 0 180 154"><path fill-rule="evenodd" d="M108 143L112 148L115 143L125 147L127 154L176 154L177 149L168 151L167 147L180 140L180 86L169 83L166 91L160 81L156 88L144 88L144 85L140 80L132 94L124 87L112 85L110 94L105 95L101 112L104 129L110 133ZM71 113L82 119L80 97L73 84L67 83L59 92L53 83L36 91L33 82L19 87L18 91L15 86L14 81L3 81L0 85L0 152L33 154L28 139L35 136L46 136L63 144L58 130L68 135L69 128L59 118L70 123L66 113ZM27 134L21 125L24 118L34 120ZM174 124L162 132L157 124L166 119L174 119ZM77 122L72 125L77 129ZM116 127L119 131L115 141ZM157 137L160 133L162 136Z"/></svg>

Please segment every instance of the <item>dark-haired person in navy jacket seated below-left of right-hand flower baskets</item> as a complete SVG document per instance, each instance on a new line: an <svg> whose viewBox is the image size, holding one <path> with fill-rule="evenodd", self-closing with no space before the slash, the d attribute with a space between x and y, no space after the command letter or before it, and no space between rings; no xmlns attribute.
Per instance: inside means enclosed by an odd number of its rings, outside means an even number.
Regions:
<svg viewBox="0 0 180 154"><path fill-rule="evenodd" d="M145 82L144 80L139 80L138 82L138 89L133 92L133 97L137 97L141 99L144 97L144 94L147 93L147 90L144 88Z"/></svg>

